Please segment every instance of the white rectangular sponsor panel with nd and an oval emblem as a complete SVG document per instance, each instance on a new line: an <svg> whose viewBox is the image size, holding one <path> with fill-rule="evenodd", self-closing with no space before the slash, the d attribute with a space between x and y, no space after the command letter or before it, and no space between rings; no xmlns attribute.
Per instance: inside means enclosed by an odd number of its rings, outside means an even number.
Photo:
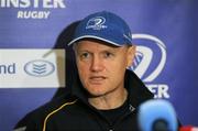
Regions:
<svg viewBox="0 0 198 131"><path fill-rule="evenodd" d="M0 50L0 88L65 87L64 50Z"/></svg>

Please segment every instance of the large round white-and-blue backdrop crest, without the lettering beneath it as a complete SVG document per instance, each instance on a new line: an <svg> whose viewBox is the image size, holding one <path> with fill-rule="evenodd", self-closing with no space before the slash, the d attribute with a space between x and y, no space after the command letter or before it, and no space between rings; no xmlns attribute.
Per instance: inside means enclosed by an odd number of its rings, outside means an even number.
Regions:
<svg viewBox="0 0 198 131"><path fill-rule="evenodd" d="M133 34L132 39L142 40L144 44L136 47L131 69L143 81L151 83L161 74L166 64L166 46L160 39L148 34Z"/></svg>

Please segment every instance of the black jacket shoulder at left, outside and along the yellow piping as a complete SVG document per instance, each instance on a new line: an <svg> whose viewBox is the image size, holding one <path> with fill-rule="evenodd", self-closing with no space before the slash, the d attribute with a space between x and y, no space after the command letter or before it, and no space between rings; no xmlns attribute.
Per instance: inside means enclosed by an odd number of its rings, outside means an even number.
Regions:
<svg viewBox="0 0 198 131"><path fill-rule="evenodd" d="M50 114L61 109L64 105L72 105L75 100L76 98L70 95L63 95L48 101L22 118L14 127L14 131L42 131L44 121Z"/></svg>

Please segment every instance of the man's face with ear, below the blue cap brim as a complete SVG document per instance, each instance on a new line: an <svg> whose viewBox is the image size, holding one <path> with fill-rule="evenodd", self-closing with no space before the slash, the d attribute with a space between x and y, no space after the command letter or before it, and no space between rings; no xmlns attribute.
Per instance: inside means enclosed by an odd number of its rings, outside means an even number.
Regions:
<svg viewBox="0 0 198 131"><path fill-rule="evenodd" d="M77 43L75 53L84 88L99 97L123 88L125 68L132 64L135 47L84 40Z"/></svg>

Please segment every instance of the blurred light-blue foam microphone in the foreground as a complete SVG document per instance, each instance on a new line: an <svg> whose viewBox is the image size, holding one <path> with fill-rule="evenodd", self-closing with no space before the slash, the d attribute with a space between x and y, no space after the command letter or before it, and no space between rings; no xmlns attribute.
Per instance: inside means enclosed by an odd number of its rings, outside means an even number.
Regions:
<svg viewBox="0 0 198 131"><path fill-rule="evenodd" d="M142 131L176 131L177 118L170 102L147 100L140 106L139 125Z"/></svg>

